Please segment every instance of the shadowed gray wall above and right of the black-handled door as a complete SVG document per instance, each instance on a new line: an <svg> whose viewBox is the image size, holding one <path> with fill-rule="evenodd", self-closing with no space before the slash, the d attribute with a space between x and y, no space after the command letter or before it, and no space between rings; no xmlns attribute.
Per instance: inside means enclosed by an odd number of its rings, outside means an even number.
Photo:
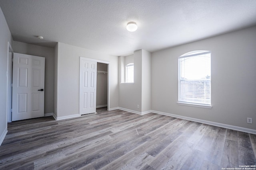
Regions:
<svg viewBox="0 0 256 170"><path fill-rule="evenodd" d="M14 41L13 50L15 53L45 57L44 113L53 113L54 49Z"/></svg>

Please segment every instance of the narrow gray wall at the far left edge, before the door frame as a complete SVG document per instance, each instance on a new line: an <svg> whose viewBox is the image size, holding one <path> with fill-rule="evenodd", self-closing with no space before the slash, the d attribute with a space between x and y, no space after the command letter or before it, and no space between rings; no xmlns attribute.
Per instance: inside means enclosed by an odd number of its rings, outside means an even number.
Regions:
<svg viewBox="0 0 256 170"><path fill-rule="evenodd" d="M7 133L6 102L7 102L7 76L8 42L12 46L12 35L0 8L0 145Z"/></svg>

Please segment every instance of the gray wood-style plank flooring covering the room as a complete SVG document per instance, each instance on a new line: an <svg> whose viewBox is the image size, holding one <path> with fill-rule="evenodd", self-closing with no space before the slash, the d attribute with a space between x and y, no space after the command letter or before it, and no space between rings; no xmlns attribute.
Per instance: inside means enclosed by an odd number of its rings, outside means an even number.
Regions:
<svg viewBox="0 0 256 170"><path fill-rule="evenodd" d="M256 135L122 110L8 123L0 170L222 170L256 165Z"/></svg>

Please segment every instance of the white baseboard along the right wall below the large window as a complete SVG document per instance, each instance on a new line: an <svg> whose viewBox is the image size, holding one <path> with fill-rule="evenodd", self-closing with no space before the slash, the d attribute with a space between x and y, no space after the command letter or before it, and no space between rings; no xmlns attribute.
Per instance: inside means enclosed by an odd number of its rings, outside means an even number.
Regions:
<svg viewBox="0 0 256 170"><path fill-rule="evenodd" d="M157 113L157 114L160 114L160 115L176 117L176 118L185 119L185 120L189 120L189 121L195 121L195 122L204 123L204 124L207 124L207 125L224 127L224 128L232 129L232 130L236 130L236 131L242 131L242 132L246 132L246 133L256 134L256 130L254 130L254 129L248 129L248 128L238 127L238 126L233 126L233 125L226 125L226 124L217 123L217 122L213 122L213 121L206 121L206 120L196 119L196 118L192 118L192 117L174 115L174 114L171 114L171 113L165 113L165 112L155 111L155 110L152 110L152 113Z"/></svg>

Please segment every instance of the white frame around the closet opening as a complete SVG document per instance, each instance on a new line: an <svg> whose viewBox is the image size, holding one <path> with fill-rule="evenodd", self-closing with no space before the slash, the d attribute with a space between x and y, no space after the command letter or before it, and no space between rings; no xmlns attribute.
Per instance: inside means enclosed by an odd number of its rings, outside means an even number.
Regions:
<svg viewBox="0 0 256 170"><path fill-rule="evenodd" d="M109 96L109 94L110 94L110 89L109 89L109 83L110 83L110 76L109 76L109 70L110 70L110 62L108 62L108 61L103 61L103 60L98 60L98 59L90 59L90 58L86 58L86 57L80 57L80 63L79 63L79 65L81 66L81 60L87 60L87 61L94 61L94 62L97 62L97 63L105 63L105 64L108 64L108 94L107 94L107 96L108 96L108 99L107 99L107 110L108 110L108 108L110 108L110 100L109 100L109 98L110 98L110 96ZM96 74L96 80L97 80L97 74ZM80 105L80 102L81 102L81 86L80 86L80 84L81 84L81 67L79 68L79 115L81 115L81 112L80 112L80 110L81 110L81 105ZM96 88L97 89L97 88ZM97 93L97 91L96 91L96 93Z"/></svg>

